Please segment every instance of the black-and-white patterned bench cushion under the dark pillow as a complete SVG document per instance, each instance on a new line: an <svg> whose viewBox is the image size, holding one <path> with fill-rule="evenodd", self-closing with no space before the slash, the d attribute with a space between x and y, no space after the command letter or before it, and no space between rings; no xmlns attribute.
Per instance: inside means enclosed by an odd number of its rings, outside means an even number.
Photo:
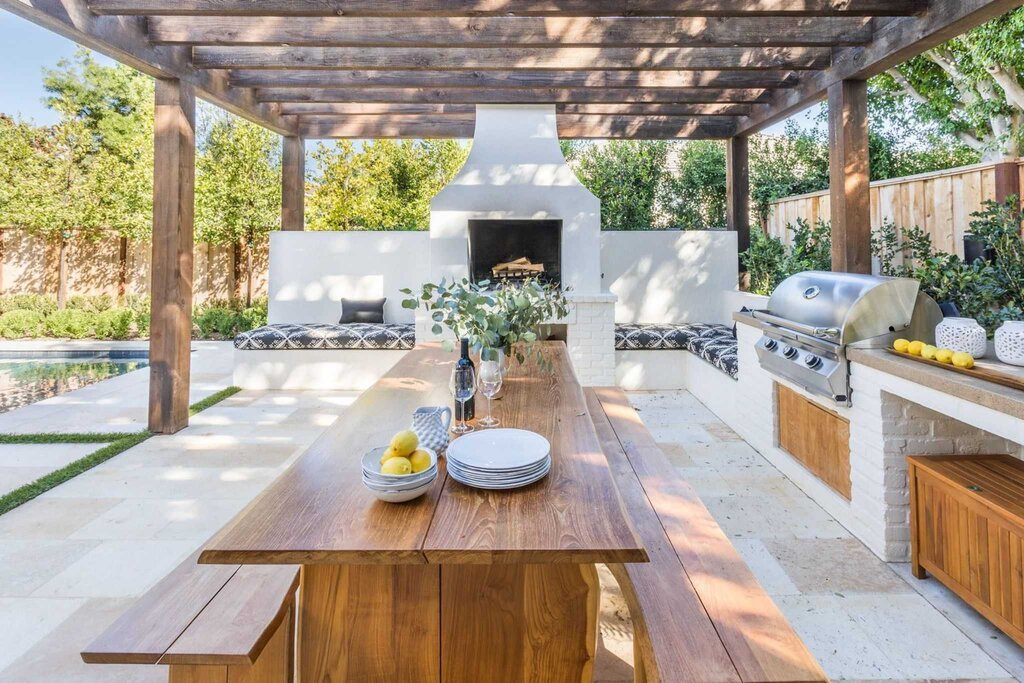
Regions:
<svg viewBox="0 0 1024 683"><path fill-rule="evenodd" d="M234 338L245 351L357 349L408 351L416 346L416 326L394 323L266 325Z"/></svg>

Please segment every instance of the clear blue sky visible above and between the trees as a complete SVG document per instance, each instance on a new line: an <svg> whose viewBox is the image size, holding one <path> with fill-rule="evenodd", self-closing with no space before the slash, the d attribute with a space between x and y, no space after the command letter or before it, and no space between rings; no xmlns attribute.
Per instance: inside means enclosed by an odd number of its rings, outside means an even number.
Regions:
<svg viewBox="0 0 1024 683"><path fill-rule="evenodd" d="M42 102L43 68L71 57L77 47L55 33L0 9L0 113L37 125L56 123L56 115ZM809 114L798 115L802 125L809 118ZM781 133L782 125L772 126L767 132Z"/></svg>

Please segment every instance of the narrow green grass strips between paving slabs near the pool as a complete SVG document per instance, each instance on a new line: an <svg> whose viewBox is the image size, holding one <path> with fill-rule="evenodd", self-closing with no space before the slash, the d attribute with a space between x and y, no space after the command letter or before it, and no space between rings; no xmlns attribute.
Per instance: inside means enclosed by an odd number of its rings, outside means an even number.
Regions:
<svg viewBox="0 0 1024 683"><path fill-rule="evenodd" d="M189 407L188 415L194 416L216 405L225 398L242 391L239 387L227 387L217 393L207 396ZM50 488L91 470L96 465L119 456L128 449L134 447L153 436L148 431L111 432L105 434L0 434L0 444L3 443L97 443L110 441L98 451L65 465L58 470L43 475L24 486L0 496L0 515L10 512L19 505L25 505L34 498L42 496Z"/></svg>

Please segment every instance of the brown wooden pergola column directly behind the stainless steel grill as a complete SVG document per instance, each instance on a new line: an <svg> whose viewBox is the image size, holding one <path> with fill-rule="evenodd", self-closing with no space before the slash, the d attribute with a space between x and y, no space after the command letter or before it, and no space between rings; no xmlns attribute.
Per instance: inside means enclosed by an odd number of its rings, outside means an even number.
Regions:
<svg viewBox="0 0 1024 683"><path fill-rule="evenodd" d="M828 88L833 270L871 271L867 82Z"/></svg>

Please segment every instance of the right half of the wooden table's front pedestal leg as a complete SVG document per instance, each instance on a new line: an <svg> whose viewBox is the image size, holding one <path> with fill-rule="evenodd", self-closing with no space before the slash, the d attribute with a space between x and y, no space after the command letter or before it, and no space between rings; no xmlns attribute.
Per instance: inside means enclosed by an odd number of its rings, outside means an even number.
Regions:
<svg viewBox="0 0 1024 683"><path fill-rule="evenodd" d="M592 564L442 566L442 679L589 683L600 592Z"/></svg>

